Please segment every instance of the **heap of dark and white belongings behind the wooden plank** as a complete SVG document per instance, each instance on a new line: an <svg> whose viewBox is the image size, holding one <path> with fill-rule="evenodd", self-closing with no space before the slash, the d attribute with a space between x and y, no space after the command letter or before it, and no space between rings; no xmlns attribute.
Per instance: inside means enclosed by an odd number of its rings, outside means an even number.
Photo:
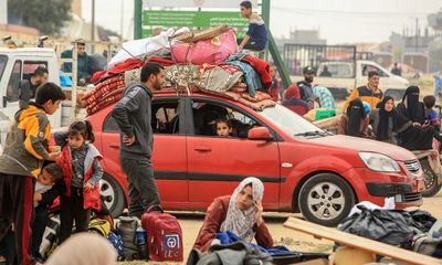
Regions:
<svg viewBox="0 0 442 265"><path fill-rule="evenodd" d="M422 210L409 212L361 202L354 206L338 230L442 258L442 221L436 222Z"/></svg>

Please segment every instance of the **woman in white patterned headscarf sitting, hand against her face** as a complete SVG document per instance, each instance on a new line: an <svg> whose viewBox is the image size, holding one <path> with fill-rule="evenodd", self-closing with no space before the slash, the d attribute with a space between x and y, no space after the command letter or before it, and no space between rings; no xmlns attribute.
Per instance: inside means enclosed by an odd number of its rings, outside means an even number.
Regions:
<svg viewBox="0 0 442 265"><path fill-rule="evenodd" d="M261 201L264 186L256 178L246 178L232 195L214 199L208 208L204 222L193 248L206 252L217 242L217 233L231 231L246 242L253 239L263 247L272 247L273 240L262 218Z"/></svg>

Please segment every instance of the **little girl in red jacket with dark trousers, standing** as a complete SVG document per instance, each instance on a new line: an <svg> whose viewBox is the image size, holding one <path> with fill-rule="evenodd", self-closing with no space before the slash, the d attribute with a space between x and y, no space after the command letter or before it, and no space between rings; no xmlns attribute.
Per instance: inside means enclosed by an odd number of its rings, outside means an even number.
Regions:
<svg viewBox="0 0 442 265"><path fill-rule="evenodd" d="M57 132L54 138L63 147L57 163L63 168L66 186L66 193L60 197L60 243L63 243L71 236L74 220L77 233L87 232L91 209L99 210L102 155L92 145L95 138L88 120L73 123L67 134Z"/></svg>

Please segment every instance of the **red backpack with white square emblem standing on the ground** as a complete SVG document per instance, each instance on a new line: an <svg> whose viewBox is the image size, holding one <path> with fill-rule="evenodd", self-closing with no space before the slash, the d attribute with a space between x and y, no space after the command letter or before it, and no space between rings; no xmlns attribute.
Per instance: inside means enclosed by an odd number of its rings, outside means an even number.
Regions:
<svg viewBox="0 0 442 265"><path fill-rule="evenodd" d="M143 214L141 226L147 231L150 261L182 262L182 231L177 218L152 205Z"/></svg>

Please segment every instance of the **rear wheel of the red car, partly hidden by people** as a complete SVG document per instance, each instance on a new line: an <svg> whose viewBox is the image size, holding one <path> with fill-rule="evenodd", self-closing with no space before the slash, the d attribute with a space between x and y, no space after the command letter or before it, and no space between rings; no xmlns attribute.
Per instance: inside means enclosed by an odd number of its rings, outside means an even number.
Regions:
<svg viewBox="0 0 442 265"><path fill-rule="evenodd" d="M99 193L105 197L105 204L113 218L118 218L126 208L126 197L118 182L107 173L99 181Z"/></svg>

